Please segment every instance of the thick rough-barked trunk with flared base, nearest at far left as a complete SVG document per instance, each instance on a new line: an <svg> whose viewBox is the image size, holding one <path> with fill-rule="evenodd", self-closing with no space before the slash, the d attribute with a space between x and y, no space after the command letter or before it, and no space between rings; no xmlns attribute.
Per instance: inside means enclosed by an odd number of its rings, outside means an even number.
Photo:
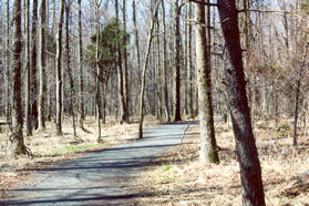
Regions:
<svg viewBox="0 0 309 206"><path fill-rule="evenodd" d="M21 104L21 0L14 0L13 2L13 34L12 34L12 78L13 78L13 91L12 91L12 152L13 154L27 154L27 150L23 143L22 135L22 104Z"/></svg>

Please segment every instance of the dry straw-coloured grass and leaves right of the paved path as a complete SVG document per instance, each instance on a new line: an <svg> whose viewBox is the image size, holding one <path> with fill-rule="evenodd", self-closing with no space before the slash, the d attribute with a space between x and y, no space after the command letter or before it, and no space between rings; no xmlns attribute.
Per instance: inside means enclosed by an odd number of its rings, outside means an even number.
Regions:
<svg viewBox="0 0 309 206"><path fill-rule="evenodd" d="M300 136L299 146L293 147L289 131L287 136L276 137L276 130L271 130L270 123L267 125L268 133L265 125L255 130L267 205L308 204L308 190L298 196L282 194L309 169L308 137ZM230 126L220 124L216 128L218 145L223 148L218 165L198 162L198 130L190 130L188 135L193 138L172 148L143 172L138 178L144 194L138 198L142 205L241 205L239 167Z"/></svg>

